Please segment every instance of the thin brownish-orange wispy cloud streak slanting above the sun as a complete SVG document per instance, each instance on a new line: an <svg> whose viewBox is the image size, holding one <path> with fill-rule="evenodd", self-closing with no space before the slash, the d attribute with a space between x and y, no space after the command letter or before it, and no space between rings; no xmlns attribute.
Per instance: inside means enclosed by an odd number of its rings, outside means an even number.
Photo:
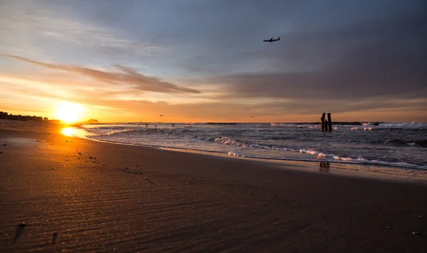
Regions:
<svg viewBox="0 0 427 253"><path fill-rule="evenodd" d="M25 63L31 63L44 68L53 70L61 70L71 72L84 77L90 77L100 82L106 82L114 85L130 84L135 90L142 90L147 92L161 92L161 93L194 93L199 94L199 90L194 90L186 87L180 87L170 82L159 80L156 77L148 77L139 74L132 68L117 65L115 66L120 71L103 71L95 70L92 68L85 68L78 65L61 65L51 63L41 63L36 60L29 60L27 58L19 57L16 55L3 55L4 57L21 60Z"/></svg>

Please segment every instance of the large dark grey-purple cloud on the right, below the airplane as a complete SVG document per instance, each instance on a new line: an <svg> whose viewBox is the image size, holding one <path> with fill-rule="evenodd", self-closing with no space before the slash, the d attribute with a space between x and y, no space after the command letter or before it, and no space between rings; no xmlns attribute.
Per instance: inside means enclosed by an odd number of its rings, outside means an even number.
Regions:
<svg viewBox="0 0 427 253"><path fill-rule="evenodd" d="M267 55L276 64L274 72L233 73L206 82L221 84L224 98L326 103L330 98L427 97L426 22L426 16L414 15L301 33L275 56ZM292 60L300 68L290 68Z"/></svg>

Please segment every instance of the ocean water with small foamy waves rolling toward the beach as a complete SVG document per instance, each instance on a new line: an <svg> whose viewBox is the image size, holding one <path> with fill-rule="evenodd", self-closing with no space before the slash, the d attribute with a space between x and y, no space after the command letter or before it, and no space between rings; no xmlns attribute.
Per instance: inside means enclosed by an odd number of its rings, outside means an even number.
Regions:
<svg viewBox="0 0 427 253"><path fill-rule="evenodd" d="M357 163L427 169L427 124L286 123L85 124L99 141L206 151L248 158Z"/></svg>

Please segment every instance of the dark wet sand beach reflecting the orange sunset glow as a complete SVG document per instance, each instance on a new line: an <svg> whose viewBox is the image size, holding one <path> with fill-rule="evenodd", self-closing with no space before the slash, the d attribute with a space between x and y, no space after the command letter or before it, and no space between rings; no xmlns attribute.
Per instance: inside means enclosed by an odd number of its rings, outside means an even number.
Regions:
<svg viewBox="0 0 427 253"><path fill-rule="evenodd" d="M426 183L309 164L105 144L0 120L0 252L427 252Z"/></svg>

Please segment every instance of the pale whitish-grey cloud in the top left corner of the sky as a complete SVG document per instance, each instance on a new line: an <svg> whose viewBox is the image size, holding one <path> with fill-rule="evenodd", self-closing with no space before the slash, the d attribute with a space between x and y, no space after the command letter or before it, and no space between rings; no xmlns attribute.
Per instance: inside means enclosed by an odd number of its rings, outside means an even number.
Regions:
<svg viewBox="0 0 427 253"><path fill-rule="evenodd" d="M48 43L56 41L60 44L77 45L109 55L135 55L145 50L157 52L165 49L158 43L132 39L132 33L97 20L100 16L87 15L90 14L90 8L99 10L99 4L80 4L81 9L78 9L78 3L6 1L0 9L0 36L4 37L1 43L8 48L26 45L28 50L28 46L34 41L44 39ZM110 12L115 12L113 10ZM102 17L104 16L106 10L102 12Z"/></svg>

